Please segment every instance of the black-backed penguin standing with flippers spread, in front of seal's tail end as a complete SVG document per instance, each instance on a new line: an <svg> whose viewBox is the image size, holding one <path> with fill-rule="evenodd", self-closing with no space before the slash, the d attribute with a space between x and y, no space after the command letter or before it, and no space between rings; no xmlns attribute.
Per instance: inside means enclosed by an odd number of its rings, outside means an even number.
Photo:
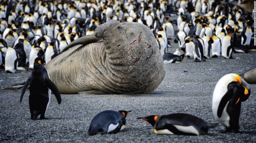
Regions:
<svg viewBox="0 0 256 143"><path fill-rule="evenodd" d="M34 60L34 68L22 89L20 103L28 86L31 119L36 120L38 115L40 115L40 119L47 119L45 118L45 112L50 103L51 92L54 93L58 104L61 104L61 94L50 80L48 72L43 66L43 56L37 57Z"/></svg>

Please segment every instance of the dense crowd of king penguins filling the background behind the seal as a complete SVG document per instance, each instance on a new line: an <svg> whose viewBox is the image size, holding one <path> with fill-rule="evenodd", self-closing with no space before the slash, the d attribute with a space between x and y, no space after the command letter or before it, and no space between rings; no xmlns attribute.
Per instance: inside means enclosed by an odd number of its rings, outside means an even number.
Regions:
<svg viewBox="0 0 256 143"><path fill-rule="evenodd" d="M181 62L184 55L196 62L232 58L233 52L249 51L254 20L252 12L245 14L230 1L2 0L0 68L7 73L33 69L34 59L42 55L47 63L67 44L93 34L110 19L147 25L165 63ZM183 55L179 50L166 53L174 38L180 48L186 47Z"/></svg>

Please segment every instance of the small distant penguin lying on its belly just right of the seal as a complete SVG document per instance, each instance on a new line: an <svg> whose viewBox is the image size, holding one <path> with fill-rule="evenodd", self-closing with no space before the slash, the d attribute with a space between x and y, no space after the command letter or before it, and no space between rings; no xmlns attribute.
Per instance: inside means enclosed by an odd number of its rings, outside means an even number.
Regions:
<svg viewBox="0 0 256 143"><path fill-rule="evenodd" d="M186 53L182 54L181 56L175 55L172 53L165 53L163 58L163 63L181 63Z"/></svg>

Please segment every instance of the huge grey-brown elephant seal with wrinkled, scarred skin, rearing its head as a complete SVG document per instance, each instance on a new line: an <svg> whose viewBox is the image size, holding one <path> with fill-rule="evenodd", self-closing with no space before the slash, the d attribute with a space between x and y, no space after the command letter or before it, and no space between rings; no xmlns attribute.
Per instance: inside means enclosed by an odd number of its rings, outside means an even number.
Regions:
<svg viewBox="0 0 256 143"><path fill-rule="evenodd" d="M110 20L73 41L45 67L62 94L151 93L165 76L152 31Z"/></svg>

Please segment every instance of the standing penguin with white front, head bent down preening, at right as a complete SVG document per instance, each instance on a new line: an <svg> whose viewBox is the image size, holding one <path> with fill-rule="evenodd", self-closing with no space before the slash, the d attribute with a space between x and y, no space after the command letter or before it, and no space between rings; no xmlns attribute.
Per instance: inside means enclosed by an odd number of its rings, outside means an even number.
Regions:
<svg viewBox="0 0 256 143"><path fill-rule="evenodd" d="M250 86L239 75L227 74L217 82L213 91L212 111L227 132L239 132L241 103L249 95Z"/></svg>

